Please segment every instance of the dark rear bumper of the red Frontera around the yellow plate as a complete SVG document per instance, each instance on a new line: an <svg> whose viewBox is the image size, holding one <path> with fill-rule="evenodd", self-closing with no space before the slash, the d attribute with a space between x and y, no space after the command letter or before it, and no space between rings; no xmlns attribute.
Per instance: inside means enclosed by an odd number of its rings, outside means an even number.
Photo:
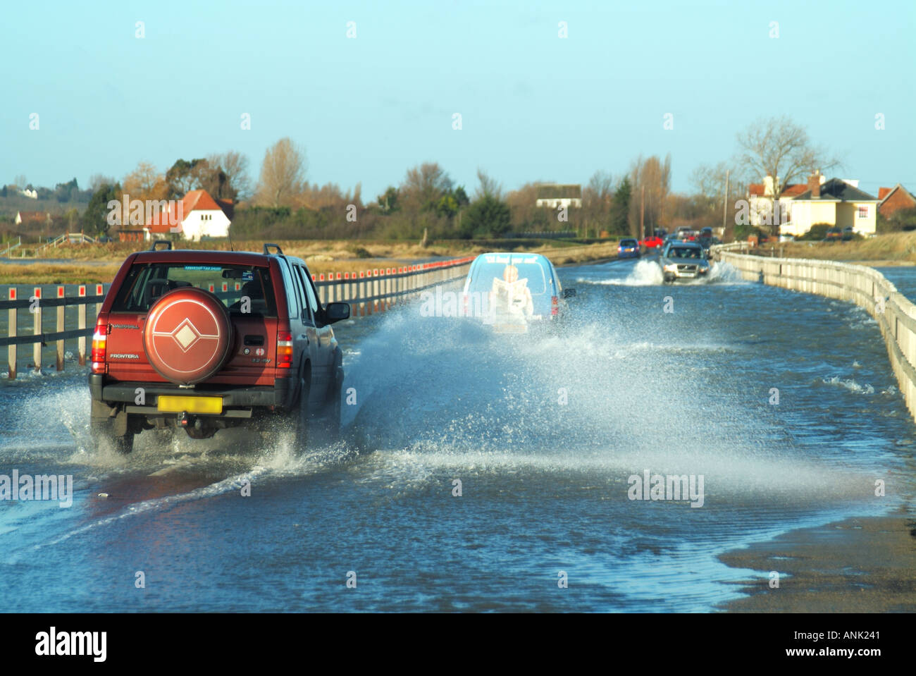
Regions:
<svg viewBox="0 0 916 676"><path fill-rule="evenodd" d="M159 395L183 395L202 397L222 397L223 408L234 407L262 408L289 406L292 386L291 378L278 378L273 387L235 387L223 385L201 385L196 387L178 387L171 383L117 382L105 383L103 374L89 375L89 392L96 401L106 403L135 404L137 387L143 388L147 407L155 408Z"/></svg>

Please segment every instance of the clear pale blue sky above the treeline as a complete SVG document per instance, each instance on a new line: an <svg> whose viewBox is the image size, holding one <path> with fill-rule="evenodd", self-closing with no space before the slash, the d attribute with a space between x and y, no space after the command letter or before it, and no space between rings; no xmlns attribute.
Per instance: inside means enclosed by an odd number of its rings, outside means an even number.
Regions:
<svg viewBox="0 0 916 676"><path fill-rule="evenodd" d="M2 16L0 183L85 186L230 149L256 180L290 136L311 182L362 182L364 200L422 161L514 189L668 152L688 191L738 131L790 114L844 160L841 178L916 189L910 1L30 2Z"/></svg>

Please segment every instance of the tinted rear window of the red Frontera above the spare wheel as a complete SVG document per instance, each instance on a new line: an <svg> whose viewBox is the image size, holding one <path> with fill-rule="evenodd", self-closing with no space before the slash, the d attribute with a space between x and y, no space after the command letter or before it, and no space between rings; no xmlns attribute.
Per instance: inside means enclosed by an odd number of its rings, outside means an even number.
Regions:
<svg viewBox="0 0 916 676"><path fill-rule="evenodd" d="M242 297L247 296L251 299L247 315L277 316L267 267L200 263L134 264L118 289L112 311L146 312L162 294L180 287L212 290L230 314L242 313Z"/></svg>

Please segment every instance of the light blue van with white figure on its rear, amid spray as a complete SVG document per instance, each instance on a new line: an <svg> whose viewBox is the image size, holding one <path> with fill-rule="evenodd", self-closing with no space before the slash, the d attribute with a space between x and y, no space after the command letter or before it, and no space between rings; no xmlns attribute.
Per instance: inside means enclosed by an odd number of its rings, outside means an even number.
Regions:
<svg viewBox="0 0 916 676"><path fill-rule="evenodd" d="M532 326L562 322L573 296L575 289L562 288L547 256L491 252L474 258L468 270L463 315L482 319L496 333L528 333Z"/></svg>

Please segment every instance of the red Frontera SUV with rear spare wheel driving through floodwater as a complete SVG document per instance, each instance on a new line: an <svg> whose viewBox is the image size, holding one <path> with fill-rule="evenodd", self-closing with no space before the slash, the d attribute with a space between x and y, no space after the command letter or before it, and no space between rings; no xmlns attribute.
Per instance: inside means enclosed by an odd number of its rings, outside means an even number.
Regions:
<svg viewBox="0 0 916 676"><path fill-rule="evenodd" d="M310 430L333 441L344 366L331 324L349 316L322 307L305 262L278 245L132 254L95 325L93 442L127 453L144 430L206 439L237 425L293 431L297 449Z"/></svg>

